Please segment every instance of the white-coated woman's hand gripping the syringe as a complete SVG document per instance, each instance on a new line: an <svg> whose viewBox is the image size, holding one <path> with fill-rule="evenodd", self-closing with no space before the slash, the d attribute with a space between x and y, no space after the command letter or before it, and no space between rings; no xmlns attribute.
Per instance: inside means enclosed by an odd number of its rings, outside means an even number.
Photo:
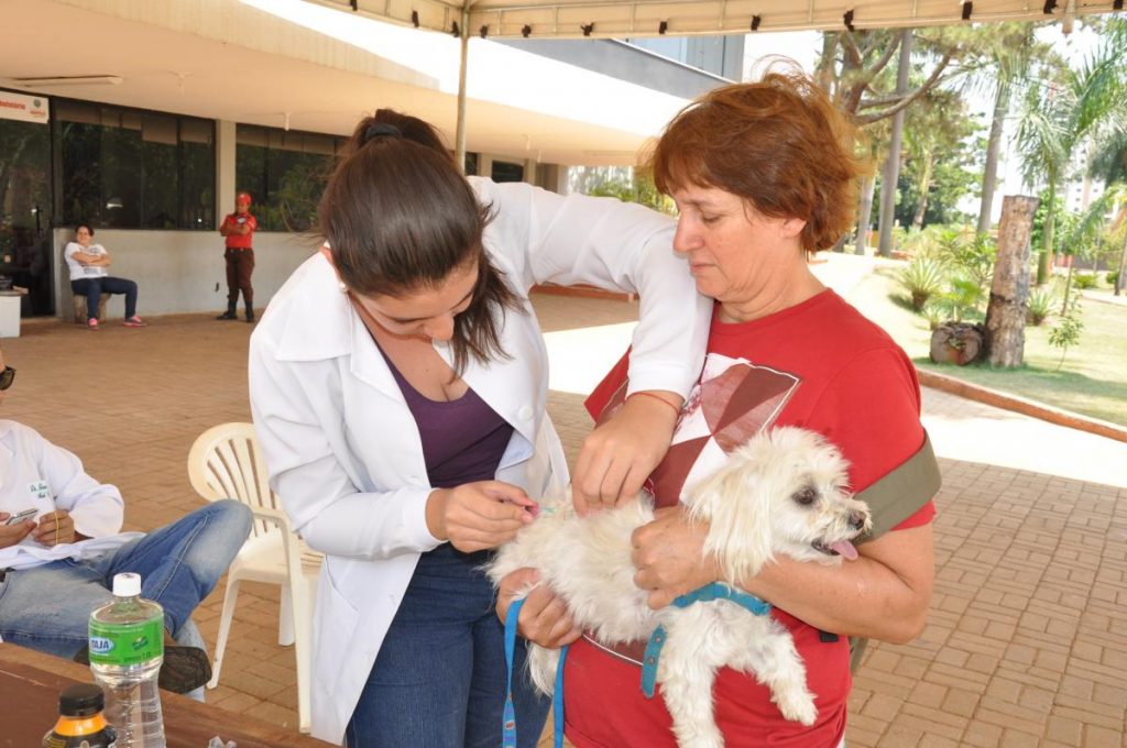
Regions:
<svg viewBox="0 0 1127 748"><path fill-rule="evenodd" d="M426 502L426 526L438 540L472 553L497 547L532 522L536 502L517 486L500 481L440 488Z"/></svg>

